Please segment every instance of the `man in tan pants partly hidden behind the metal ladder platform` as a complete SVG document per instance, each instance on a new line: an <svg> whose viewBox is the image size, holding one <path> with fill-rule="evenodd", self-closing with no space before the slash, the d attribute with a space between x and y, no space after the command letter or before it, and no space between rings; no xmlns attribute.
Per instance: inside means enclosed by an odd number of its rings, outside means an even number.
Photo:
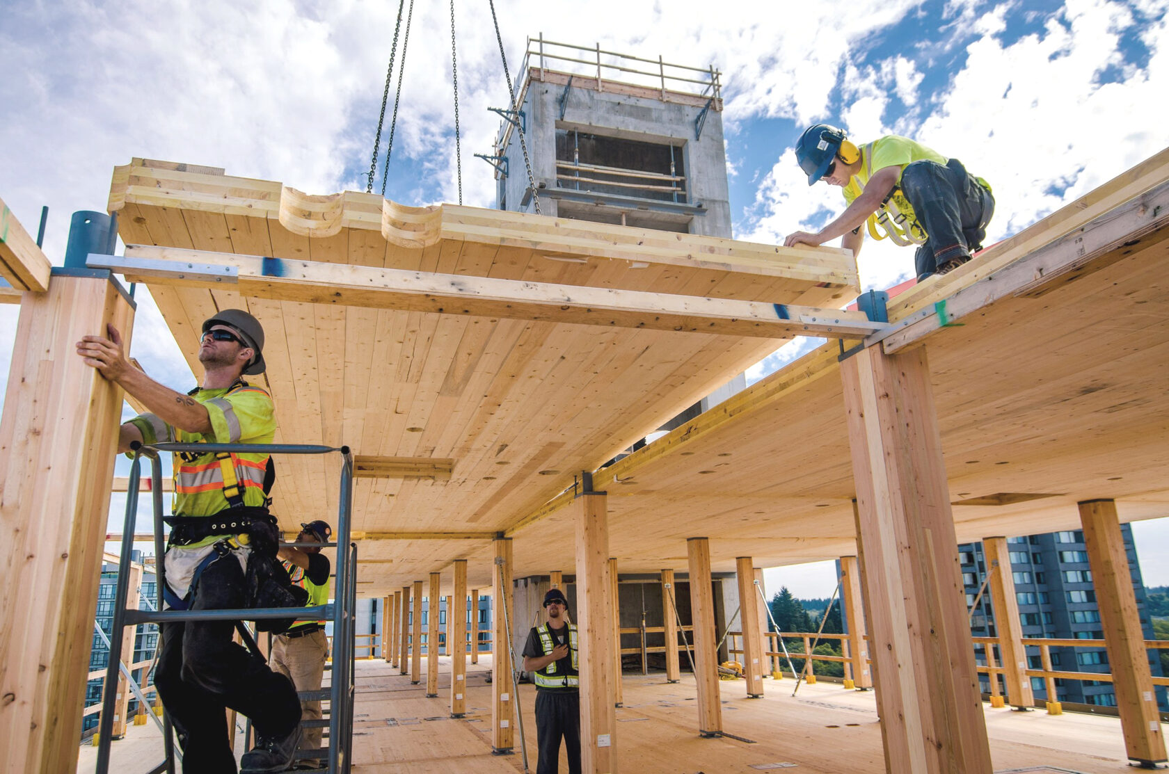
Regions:
<svg viewBox="0 0 1169 774"><path fill-rule="evenodd" d="M333 528L320 519L300 525L298 546L281 546L277 557L284 560L295 586L309 592L305 607L328 603L328 574L332 564L320 553L320 546L328 543ZM304 545L316 544L316 545ZM325 659L328 657L328 640L320 621L297 621L285 634L272 638L272 652L268 663L274 670L288 676L296 690L319 691L325 676ZM302 749L320 749L321 730L311 724L320 720L320 699L300 699L300 721L306 726ZM293 768L316 769L320 763L313 759L302 759Z"/></svg>

